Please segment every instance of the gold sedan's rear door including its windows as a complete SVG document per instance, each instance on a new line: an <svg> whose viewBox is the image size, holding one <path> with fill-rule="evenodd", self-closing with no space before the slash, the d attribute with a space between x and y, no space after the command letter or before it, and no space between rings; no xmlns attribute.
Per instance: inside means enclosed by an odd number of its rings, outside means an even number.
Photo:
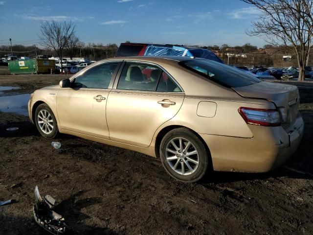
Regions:
<svg viewBox="0 0 313 235"><path fill-rule="evenodd" d="M156 129L179 111L184 93L159 66L126 62L107 101L110 140L148 147Z"/></svg>

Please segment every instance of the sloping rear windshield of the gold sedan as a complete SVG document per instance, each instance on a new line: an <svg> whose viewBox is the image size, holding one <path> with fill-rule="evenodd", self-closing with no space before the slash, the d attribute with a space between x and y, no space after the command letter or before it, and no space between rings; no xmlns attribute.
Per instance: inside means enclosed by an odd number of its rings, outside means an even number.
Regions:
<svg viewBox="0 0 313 235"><path fill-rule="evenodd" d="M244 71L211 60L187 60L179 64L225 87L245 87L262 82Z"/></svg>

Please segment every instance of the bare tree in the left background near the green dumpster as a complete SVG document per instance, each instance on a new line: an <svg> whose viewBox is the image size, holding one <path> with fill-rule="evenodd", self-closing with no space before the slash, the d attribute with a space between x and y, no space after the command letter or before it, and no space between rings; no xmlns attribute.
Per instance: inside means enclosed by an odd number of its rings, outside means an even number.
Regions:
<svg viewBox="0 0 313 235"><path fill-rule="evenodd" d="M42 22L40 36L41 45L55 50L61 61L62 52L69 40L75 35L75 24L72 22Z"/></svg>

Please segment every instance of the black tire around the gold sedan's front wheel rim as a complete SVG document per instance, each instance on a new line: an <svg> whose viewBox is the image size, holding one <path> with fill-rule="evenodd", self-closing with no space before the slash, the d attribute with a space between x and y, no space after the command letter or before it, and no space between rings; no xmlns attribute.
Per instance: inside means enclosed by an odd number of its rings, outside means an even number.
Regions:
<svg viewBox="0 0 313 235"><path fill-rule="evenodd" d="M40 114L41 111L42 111L43 113L45 113L45 114L46 114L46 112L48 112L48 114L50 114L50 116L51 116L51 118L49 117L49 121L51 121L51 120L53 121L53 122L51 122L52 125L53 125L53 128L49 127L50 129L47 129L47 130L48 130L47 133L45 133L45 132L41 129L40 124L39 124L39 122L38 122L39 120L42 120L41 118L38 117L38 115ZM40 116L42 117L42 113L40 114ZM48 115L47 115L47 117L48 117ZM53 139L53 138L55 138L56 135L58 134L58 124L57 124L57 120L55 119L52 110L49 108L49 106L48 106L47 104L43 103L43 104L40 104L40 105L37 107L37 109L36 109L36 111L35 111L34 121L35 121L35 123L36 123L36 127L37 127L39 133L40 133L43 137L45 137L46 139ZM49 123L50 123L50 122L49 122ZM52 130L51 130L51 129L52 129ZM51 132L50 132L50 131L51 131Z"/></svg>

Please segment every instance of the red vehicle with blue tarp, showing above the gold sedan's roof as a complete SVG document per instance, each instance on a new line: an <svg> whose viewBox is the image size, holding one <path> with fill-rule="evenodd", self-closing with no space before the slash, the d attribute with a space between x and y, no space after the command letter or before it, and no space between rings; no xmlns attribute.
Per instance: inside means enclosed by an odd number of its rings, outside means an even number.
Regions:
<svg viewBox="0 0 313 235"><path fill-rule="evenodd" d="M115 57L120 56L189 56L213 60L224 64L216 54L208 49L183 47L171 44L121 43Z"/></svg>

